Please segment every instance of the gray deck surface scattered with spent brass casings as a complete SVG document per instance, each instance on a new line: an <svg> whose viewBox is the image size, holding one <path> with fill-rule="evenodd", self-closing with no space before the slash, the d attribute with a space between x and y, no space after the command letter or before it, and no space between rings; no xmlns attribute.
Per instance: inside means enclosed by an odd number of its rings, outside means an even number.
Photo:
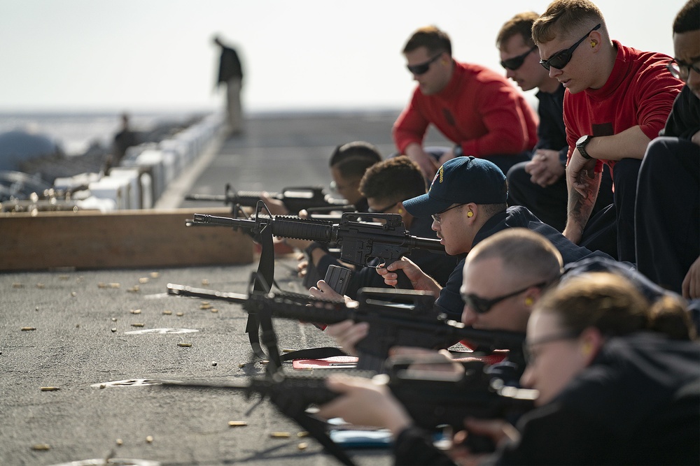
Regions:
<svg viewBox="0 0 700 466"><path fill-rule="evenodd" d="M367 140L385 156L393 151L391 124L396 116L387 112L252 119L243 136L215 143L206 163L176 184L180 191L174 189L169 196L179 197L163 201L191 207L195 204L180 201L183 192L223 194L227 182L236 189L267 191L327 185L328 156L336 145ZM442 141L435 133L428 139ZM302 291L295 265L293 256L279 258L275 278L283 289ZM265 369L253 360L244 333L246 315L239 305L212 302L218 312L211 312L200 309L202 300L164 296L169 282L198 287L208 283L210 289L244 293L256 267L257 263L0 274L0 465L58 465L106 456L162 465L339 464L313 439L296 437L302 429L268 401L246 416L255 401L241 393L92 386L154 378L244 381L262 374ZM163 314L165 310L172 314ZM177 316L179 312L183 315ZM199 331L126 334L155 328ZM309 324L275 321L275 328L281 348L334 344ZM41 391L45 386L59 390ZM231 428L229 421L248 425ZM270 436L278 431L290 432L291 437ZM307 448L300 449L302 442ZM37 444L50 448L33 449ZM351 451L351 456L359 465L392 463L388 450Z"/></svg>

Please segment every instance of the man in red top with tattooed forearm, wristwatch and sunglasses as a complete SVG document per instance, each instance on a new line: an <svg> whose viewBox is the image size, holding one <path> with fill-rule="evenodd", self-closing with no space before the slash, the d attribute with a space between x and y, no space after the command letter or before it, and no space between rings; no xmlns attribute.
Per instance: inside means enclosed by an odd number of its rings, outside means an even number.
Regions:
<svg viewBox="0 0 700 466"><path fill-rule="evenodd" d="M568 214L564 235L636 263L634 204L646 147L663 128L682 82L666 70L670 57L612 41L598 7L555 0L532 28L540 63L566 88L569 146ZM603 163L610 167L613 203L591 218Z"/></svg>

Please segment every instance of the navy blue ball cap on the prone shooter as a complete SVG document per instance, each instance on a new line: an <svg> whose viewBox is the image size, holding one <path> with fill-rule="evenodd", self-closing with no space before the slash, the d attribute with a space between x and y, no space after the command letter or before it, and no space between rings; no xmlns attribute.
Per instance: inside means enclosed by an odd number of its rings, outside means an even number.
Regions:
<svg viewBox="0 0 700 466"><path fill-rule="evenodd" d="M500 204L507 200L508 183L500 168L468 156L443 163L428 193L403 201L403 206L414 217L430 217L453 204Z"/></svg>

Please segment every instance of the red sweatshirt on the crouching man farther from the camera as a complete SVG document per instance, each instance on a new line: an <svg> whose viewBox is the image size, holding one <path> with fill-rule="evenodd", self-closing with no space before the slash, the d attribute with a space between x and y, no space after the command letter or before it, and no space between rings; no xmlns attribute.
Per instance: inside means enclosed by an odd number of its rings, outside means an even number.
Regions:
<svg viewBox="0 0 700 466"><path fill-rule="evenodd" d="M520 154L537 143L538 118L522 94L495 71L454 61L454 72L437 94L419 88L393 126L399 152L423 143L428 124L460 144L465 156Z"/></svg>

